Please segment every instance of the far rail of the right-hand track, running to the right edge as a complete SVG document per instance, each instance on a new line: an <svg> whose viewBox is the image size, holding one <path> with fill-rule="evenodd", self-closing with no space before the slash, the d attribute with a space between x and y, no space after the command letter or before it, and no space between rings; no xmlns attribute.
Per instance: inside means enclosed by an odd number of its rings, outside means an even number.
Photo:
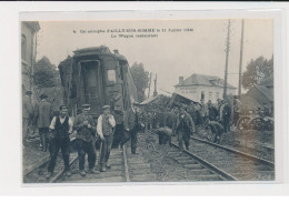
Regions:
<svg viewBox="0 0 289 203"><path fill-rule="evenodd" d="M228 151L228 152L232 152L235 154L238 154L238 155L241 155L243 158L247 158L249 160L252 160L252 161L256 161L256 162L259 162L259 163L262 163L265 164L266 166L269 166L271 169L275 169L275 163L273 162L270 162L268 160L265 160L265 159L261 159L261 158L257 158L255 155L251 155L251 154L248 154L248 153L245 153L245 152L241 152L241 151L238 151L238 150L233 150L231 148L227 148L227 146L223 146L223 145L220 145L220 144L216 144L216 143L212 143L212 142L208 142L206 140L202 140L202 139L198 139L196 136L190 136L192 140L197 140L199 142L202 142L202 143L206 143L206 144L210 144L212 146L216 146L216 148L219 148L219 149L222 149L225 151Z"/></svg>

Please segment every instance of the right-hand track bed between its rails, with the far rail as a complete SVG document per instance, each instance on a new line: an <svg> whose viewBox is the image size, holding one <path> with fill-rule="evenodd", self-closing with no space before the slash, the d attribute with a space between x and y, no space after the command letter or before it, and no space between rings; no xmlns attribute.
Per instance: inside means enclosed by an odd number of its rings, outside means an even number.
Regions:
<svg viewBox="0 0 289 203"><path fill-rule="evenodd" d="M275 180L275 163L191 136L189 152L239 181Z"/></svg>

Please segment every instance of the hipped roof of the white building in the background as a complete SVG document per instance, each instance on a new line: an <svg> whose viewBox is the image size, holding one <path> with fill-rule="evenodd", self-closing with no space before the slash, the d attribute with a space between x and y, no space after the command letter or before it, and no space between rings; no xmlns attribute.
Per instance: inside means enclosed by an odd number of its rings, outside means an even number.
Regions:
<svg viewBox="0 0 289 203"><path fill-rule="evenodd" d="M188 85L208 85L208 87L220 87L223 88L225 81L218 77L196 74L193 73L181 83L175 87L188 87ZM227 83L228 88L236 89L231 84Z"/></svg>

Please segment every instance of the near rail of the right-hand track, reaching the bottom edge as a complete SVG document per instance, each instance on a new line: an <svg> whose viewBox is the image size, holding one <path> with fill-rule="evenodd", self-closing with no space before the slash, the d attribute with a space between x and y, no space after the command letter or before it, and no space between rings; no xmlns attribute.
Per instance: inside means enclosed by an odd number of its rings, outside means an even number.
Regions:
<svg viewBox="0 0 289 203"><path fill-rule="evenodd" d="M179 146L176 143L171 142L171 145L179 149ZM239 181L237 177L232 176L231 174L225 172L223 170L221 170L220 168L207 162L206 160L201 159L200 156L193 154L192 152L188 151L188 150L183 150L183 153L188 154L189 156L196 159L198 162L200 162L201 164L206 165L207 168L209 168L210 170L219 173L221 175L221 177L225 181Z"/></svg>

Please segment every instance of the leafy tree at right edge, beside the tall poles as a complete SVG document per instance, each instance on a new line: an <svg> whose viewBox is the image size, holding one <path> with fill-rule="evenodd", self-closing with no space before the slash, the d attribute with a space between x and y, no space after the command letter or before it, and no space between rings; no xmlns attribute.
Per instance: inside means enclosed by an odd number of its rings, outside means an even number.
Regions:
<svg viewBox="0 0 289 203"><path fill-rule="evenodd" d="M253 84L262 84L270 77L273 77L273 55L269 61L263 57L251 59L242 74L242 87L250 89Z"/></svg>

